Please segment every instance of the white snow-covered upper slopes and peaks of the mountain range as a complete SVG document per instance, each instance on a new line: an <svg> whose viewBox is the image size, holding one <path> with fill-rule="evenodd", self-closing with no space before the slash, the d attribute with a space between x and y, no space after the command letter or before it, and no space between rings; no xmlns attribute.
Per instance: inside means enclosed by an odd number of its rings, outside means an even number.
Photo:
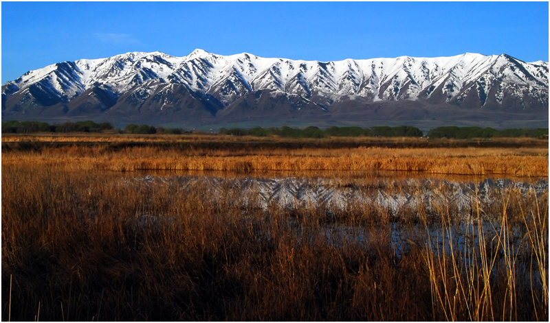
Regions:
<svg viewBox="0 0 550 323"><path fill-rule="evenodd" d="M221 56L195 49L183 57L135 51L104 59L52 64L9 83L21 91L40 82L48 95L69 99L98 84L121 94L136 86L170 83L218 96L224 103L259 90L307 97L318 94L330 101L349 95L373 101L439 95L451 101L465 96L464 91L469 88L475 88L480 98L485 97L495 82L531 88L546 84L546 88L537 91L547 97L547 74L547 62L525 63L505 54L319 62L262 58L251 53Z"/></svg>

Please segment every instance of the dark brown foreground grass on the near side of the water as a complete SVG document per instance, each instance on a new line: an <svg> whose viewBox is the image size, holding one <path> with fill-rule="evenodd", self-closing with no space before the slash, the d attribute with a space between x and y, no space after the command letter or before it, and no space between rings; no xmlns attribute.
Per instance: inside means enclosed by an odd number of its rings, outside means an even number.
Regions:
<svg viewBox="0 0 550 323"><path fill-rule="evenodd" d="M451 238L457 219L445 191L437 214L407 208L401 222L371 204L264 209L243 204L230 184L210 195L201 182L64 169L3 166L2 294L12 296L2 298L4 320L548 319L547 192L509 191L484 210L526 238L515 254L503 235L472 235L483 253L459 251L463 241ZM404 190L393 180L369 185ZM445 232L436 248L424 237L430 226ZM369 239L327 239L338 228L368 230ZM410 232L401 252L396 228Z"/></svg>

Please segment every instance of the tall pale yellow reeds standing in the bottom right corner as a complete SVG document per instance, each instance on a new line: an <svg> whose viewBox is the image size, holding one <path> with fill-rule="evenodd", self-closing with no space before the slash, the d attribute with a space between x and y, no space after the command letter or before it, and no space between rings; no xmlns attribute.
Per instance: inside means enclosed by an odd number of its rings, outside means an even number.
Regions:
<svg viewBox="0 0 550 323"><path fill-rule="evenodd" d="M513 189L501 192L498 222L483 219L478 200L472 222L465 225L457 226L452 215L443 212L440 236L430 237L424 250L433 320L439 314L452 321L517 321L526 319L525 311L533 311L532 320L548 318L548 264L544 263L548 210L540 211L540 206L547 204L540 204L531 191L535 201L528 204L529 213L525 202L510 208L511 196L517 197L517 193ZM525 225L511 224L509 211L518 213ZM524 234L518 237L517 232ZM536 259L536 267L529 258ZM531 300L526 302L527 298Z"/></svg>

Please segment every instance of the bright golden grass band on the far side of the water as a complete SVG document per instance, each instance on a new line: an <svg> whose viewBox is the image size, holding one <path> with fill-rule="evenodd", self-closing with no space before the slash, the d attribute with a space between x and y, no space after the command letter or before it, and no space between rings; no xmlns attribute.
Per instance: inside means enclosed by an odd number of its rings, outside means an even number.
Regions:
<svg viewBox="0 0 550 323"><path fill-rule="evenodd" d="M511 141L520 147L453 147L457 145L455 141L441 141L445 147L415 147L425 144L425 139L319 141L248 137L239 141L231 136L173 136L170 143L155 144L159 138L164 137L34 137L40 140L37 148L30 152L19 146L6 146L14 148L3 149L2 163L40 163L80 171L416 171L427 174L548 176L547 146L541 147L544 141L540 141L535 147L521 147L526 139ZM5 139L5 145L14 145L16 139L20 138ZM70 144L47 144L54 139ZM106 143L83 145L86 141L103 139ZM184 145L190 141L199 144ZM142 142L148 144L137 145ZM509 141L502 144L507 145L505 143ZM376 146L380 144L389 147ZM403 147L393 147L395 145Z"/></svg>

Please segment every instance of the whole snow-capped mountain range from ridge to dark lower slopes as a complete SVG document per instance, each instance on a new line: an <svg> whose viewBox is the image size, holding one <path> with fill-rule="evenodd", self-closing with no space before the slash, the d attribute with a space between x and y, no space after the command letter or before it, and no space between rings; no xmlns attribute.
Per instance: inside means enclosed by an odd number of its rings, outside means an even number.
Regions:
<svg viewBox="0 0 550 323"><path fill-rule="evenodd" d="M318 62L132 52L60 62L3 84L2 119L547 127L548 63L476 53Z"/></svg>

